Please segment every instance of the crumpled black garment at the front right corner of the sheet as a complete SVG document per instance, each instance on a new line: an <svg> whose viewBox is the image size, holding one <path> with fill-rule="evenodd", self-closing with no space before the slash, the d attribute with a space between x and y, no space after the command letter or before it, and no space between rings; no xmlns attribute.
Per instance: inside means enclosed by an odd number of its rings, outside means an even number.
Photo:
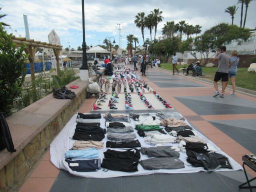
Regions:
<svg viewBox="0 0 256 192"><path fill-rule="evenodd" d="M202 166L207 171L214 171L219 168L232 169L228 158L216 152L198 154L195 151L187 150L186 154L187 162L191 163L195 167Z"/></svg>

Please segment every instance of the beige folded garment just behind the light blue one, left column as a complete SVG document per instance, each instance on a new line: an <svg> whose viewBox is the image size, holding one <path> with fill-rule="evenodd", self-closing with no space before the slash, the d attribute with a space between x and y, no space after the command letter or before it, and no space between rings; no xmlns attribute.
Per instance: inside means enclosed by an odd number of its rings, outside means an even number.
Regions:
<svg viewBox="0 0 256 192"><path fill-rule="evenodd" d="M104 142L95 140L75 140L73 143L73 150L87 149L87 148L104 148Z"/></svg>

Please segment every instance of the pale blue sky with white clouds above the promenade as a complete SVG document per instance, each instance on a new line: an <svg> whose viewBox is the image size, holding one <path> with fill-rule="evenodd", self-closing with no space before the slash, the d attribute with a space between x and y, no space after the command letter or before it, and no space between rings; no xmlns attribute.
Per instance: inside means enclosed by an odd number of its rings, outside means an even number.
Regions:
<svg viewBox="0 0 256 192"><path fill-rule="evenodd" d="M119 45L119 25L121 46L126 47L126 35L133 34L142 44L141 31L134 24L138 12L147 15L154 8L163 11L163 21L157 26L156 36L166 21L175 23L185 20L189 24L199 24L202 31L220 22L231 23L231 16L224 12L230 5L239 6L234 23L240 23L240 4L237 0L84 0L85 41L87 45L102 44L106 36L113 36ZM0 0L0 13L6 13L2 21L11 25L8 32L15 36L25 36L22 14L27 14L30 38L48 41L47 34L54 29L63 47L77 48L82 43L81 0ZM255 28L256 1L249 4L246 27ZM253 11L254 10L254 11ZM15 31L16 30L16 31ZM145 29L145 38L149 31ZM111 38L112 41L113 38Z"/></svg>

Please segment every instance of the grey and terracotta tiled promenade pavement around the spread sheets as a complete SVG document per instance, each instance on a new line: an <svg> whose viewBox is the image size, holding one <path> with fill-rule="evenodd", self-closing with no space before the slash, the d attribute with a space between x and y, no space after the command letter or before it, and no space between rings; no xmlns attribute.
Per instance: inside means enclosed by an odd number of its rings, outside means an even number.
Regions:
<svg viewBox="0 0 256 192"><path fill-rule="evenodd" d="M213 85L160 68L149 68L142 79L238 163L243 154L256 153L256 98L241 93L230 96L228 90L224 98L212 97ZM78 112L90 112L94 102L95 98L86 99ZM19 191L249 191L238 188L244 181L242 170L83 178L55 168L47 151Z"/></svg>

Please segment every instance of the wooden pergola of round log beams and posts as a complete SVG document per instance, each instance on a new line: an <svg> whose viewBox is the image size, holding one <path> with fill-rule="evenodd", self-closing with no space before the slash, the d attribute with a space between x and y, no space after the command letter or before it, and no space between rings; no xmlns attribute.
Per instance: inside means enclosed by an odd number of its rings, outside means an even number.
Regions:
<svg viewBox="0 0 256 192"><path fill-rule="evenodd" d="M28 60L30 64L30 72L31 72L31 86L32 90L35 92L35 75L34 75L34 55L36 53L37 48L45 47L52 48L55 54L56 66L57 66L57 75L60 76L60 67L59 67L59 55L62 49L62 45L51 44L47 42L41 42L39 40L34 39L26 39L25 37L11 37L12 42L16 44L16 47L25 44L26 47L24 49L25 53L28 54Z"/></svg>

